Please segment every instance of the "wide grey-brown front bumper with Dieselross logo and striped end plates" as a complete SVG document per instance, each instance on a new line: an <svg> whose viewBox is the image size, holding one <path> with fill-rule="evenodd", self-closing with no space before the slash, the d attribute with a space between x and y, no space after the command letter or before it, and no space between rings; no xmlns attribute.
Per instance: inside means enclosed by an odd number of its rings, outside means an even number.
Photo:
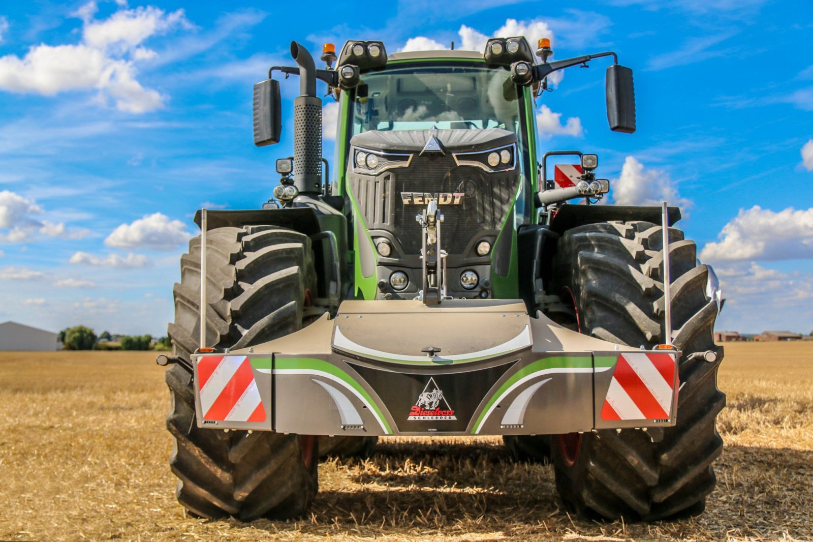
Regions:
<svg viewBox="0 0 813 542"><path fill-rule="evenodd" d="M520 301L346 301L281 339L193 356L195 404L201 427L304 435L672 426L678 357L529 317Z"/></svg>

